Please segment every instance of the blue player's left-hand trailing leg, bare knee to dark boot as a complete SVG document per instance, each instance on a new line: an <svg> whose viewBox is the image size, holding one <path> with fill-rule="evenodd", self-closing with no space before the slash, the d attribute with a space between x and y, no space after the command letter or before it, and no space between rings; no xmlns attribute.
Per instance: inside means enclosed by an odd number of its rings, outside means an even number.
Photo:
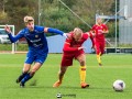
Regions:
<svg viewBox="0 0 132 99"><path fill-rule="evenodd" d="M25 75L28 75L30 68L31 68L31 64L24 64L22 74L18 77L16 82L20 82L25 77Z"/></svg>

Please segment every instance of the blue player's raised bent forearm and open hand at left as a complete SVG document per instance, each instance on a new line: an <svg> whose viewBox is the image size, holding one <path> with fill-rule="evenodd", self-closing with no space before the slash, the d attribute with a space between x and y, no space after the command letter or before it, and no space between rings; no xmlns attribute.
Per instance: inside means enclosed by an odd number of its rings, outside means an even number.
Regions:
<svg viewBox="0 0 132 99"><path fill-rule="evenodd" d="M23 35L22 34L18 34L18 35L15 35L15 36L12 36L12 32L11 32L11 30L10 30L10 26L8 26L8 25L6 25L4 26L4 30L6 30L6 32L8 33L8 35L9 35L9 38L10 38L10 41L12 42L12 43L14 43L14 42L16 42L19 38L21 38Z"/></svg>

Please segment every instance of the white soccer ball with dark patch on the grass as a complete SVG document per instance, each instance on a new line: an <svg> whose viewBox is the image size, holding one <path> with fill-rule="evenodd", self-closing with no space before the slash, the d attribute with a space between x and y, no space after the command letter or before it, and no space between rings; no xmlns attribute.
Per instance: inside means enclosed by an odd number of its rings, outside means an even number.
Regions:
<svg viewBox="0 0 132 99"><path fill-rule="evenodd" d="M124 88L125 88L125 84L123 80L118 79L113 82L113 89L116 91L123 91Z"/></svg>

